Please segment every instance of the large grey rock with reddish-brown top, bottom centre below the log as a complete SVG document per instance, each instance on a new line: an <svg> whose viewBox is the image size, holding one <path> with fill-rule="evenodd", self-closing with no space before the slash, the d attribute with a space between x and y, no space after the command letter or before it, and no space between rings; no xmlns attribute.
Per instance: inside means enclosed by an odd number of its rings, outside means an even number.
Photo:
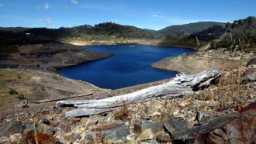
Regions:
<svg viewBox="0 0 256 144"><path fill-rule="evenodd" d="M86 138L92 140L93 137L102 136L104 139L111 139L112 141L119 140L130 135L128 126L123 123L102 124L95 126L86 133Z"/></svg>

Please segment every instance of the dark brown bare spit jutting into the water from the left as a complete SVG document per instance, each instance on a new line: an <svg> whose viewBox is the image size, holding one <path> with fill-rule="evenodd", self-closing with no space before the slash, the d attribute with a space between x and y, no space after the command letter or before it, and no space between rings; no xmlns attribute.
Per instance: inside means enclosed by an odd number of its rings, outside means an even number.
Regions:
<svg viewBox="0 0 256 144"><path fill-rule="evenodd" d="M110 53L99 53L85 50L84 46L74 46L66 43L44 43L17 46L16 53L0 53L1 67L19 65L57 68L100 60L110 57Z"/></svg>

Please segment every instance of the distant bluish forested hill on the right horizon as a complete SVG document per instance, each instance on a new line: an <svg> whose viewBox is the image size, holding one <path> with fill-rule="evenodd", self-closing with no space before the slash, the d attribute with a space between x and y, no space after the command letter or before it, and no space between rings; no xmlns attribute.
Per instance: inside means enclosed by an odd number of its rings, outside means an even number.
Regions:
<svg viewBox="0 0 256 144"><path fill-rule="evenodd" d="M208 29L214 25L225 26L223 22L194 22L185 25L175 25L168 26L164 29L159 30L158 32L164 36L174 36L174 35L190 35L192 33L198 33L203 29Z"/></svg>

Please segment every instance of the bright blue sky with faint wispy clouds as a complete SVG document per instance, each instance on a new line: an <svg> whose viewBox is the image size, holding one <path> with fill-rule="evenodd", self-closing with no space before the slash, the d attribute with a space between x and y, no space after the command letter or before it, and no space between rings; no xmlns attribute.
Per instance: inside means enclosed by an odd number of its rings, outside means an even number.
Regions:
<svg viewBox="0 0 256 144"><path fill-rule="evenodd" d="M0 0L0 26L70 27L116 22L147 29L256 15L256 0Z"/></svg>

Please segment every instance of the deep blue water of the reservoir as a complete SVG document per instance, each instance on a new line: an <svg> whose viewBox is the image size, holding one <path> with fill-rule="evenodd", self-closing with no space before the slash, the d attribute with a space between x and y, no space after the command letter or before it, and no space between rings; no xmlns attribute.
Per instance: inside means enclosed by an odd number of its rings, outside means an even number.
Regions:
<svg viewBox="0 0 256 144"><path fill-rule="evenodd" d="M151 64L165 57L195 52L195 50L181 47L139 44L86 46L86 49L112 53L114 56L105 60L61 68L58 73L64 77L88 81L98 87L111 89L175 77L176 71L158 70L151 67Z"/></svg>

